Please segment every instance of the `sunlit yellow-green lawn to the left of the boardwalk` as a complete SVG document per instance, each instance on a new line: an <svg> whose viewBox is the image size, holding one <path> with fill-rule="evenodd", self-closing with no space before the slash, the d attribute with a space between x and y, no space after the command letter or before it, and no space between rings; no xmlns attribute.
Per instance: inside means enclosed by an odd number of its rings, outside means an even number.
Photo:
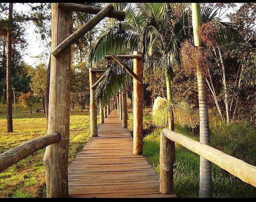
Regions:
<svg viewBox="0 0 256 202"><path fill-rule="evenodd" d="M35 113L42 108L42 103L33 104L33 114L29 108L13 107L13 131L6 133L6 105L0 104L0 153L31 139L46 135L46 117L44 113ZM79 153L90 135L89 113L71 111L70 143L68 162L70 163ZM46 183L43 165L45 149L39 150L12 165L0 173L0 197L30 198L46 197Z"/></svg>

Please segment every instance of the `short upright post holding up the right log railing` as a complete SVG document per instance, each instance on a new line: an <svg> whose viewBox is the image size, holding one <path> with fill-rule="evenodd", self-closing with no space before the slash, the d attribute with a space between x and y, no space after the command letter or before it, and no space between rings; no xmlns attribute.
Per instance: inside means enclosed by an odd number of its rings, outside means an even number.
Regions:
<svg viewBox="0 0 256 202"><path fill-rule="evenodd" d="M160 135L160 193L173 193L173 164L175 144L163 135Z"/></svg>

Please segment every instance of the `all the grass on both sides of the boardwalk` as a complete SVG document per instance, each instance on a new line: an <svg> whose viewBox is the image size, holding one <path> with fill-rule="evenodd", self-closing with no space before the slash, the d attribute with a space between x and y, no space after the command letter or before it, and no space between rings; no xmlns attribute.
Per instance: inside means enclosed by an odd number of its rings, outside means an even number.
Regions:
<svg viewBox="0 0 256 202"><path fill-rule="evenodd" d="M13 107L14 108L14 107ZM6 106L0 105L0 153L21 143L46 135L46 118L43 113L35 113L42 103L35 103L33 114L28 108L16 106L13 115L14 132L6 133ZM14 109L13 109L14 114ZM129 109L128 128L132 133L132 109ZM190 134L189 128L175 124L175 131L199 140L199 131ZM160 132L152 126L151 109L143 115L143 155L159 175ZM79 107L71 111L69 163L79 153L90 135L89 113ZM238 159L256 165L256 128L241 122L227 126L210 119L211 146ZM0 173L0 197L31 198L46 197L44 165L45 149L35 152L26 159ZM178 197L199 196L199 156L175 144L174 193ZM228 172L212 164L213 197L256 197L256 188L242 182Z"/></svg>

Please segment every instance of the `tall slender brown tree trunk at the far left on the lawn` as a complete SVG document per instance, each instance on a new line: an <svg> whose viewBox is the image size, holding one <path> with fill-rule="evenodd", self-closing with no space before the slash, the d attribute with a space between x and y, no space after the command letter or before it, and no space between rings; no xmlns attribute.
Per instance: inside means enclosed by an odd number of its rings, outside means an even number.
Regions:
<svg viewBox="0 0 256 202"><path fill-rule="evenodd" d="M6 65L6 117L7 117L7 131L13 132L13 115L12 115L12 93L11 93L11 60L12 60L12 24L13 24L13 3L9 3L9 28L7 31L7 65Z"/></svg>

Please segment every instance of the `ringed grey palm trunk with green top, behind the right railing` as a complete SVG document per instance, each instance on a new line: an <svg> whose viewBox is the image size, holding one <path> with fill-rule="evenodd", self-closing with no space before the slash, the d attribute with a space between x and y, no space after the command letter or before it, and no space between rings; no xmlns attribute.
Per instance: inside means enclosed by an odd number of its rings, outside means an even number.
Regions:
<svg viewBox="0 0 256 202"><path fill-rule="evenodd" d="M192 7L192 24L194 33L194 45L201 47L203 43L199 38L197 29L202 25L200 5L199 3L191 3ZM197 68L197 85L198 85L198 100L199 100L199 117L200 117L200 142L210 145L209 135L209 117L207 109L207 83L205 74L201 69ZM212 197L212 167L211 162L207 161L203 156L200 156L200 182L199 182L199 197Z"/></svg>

